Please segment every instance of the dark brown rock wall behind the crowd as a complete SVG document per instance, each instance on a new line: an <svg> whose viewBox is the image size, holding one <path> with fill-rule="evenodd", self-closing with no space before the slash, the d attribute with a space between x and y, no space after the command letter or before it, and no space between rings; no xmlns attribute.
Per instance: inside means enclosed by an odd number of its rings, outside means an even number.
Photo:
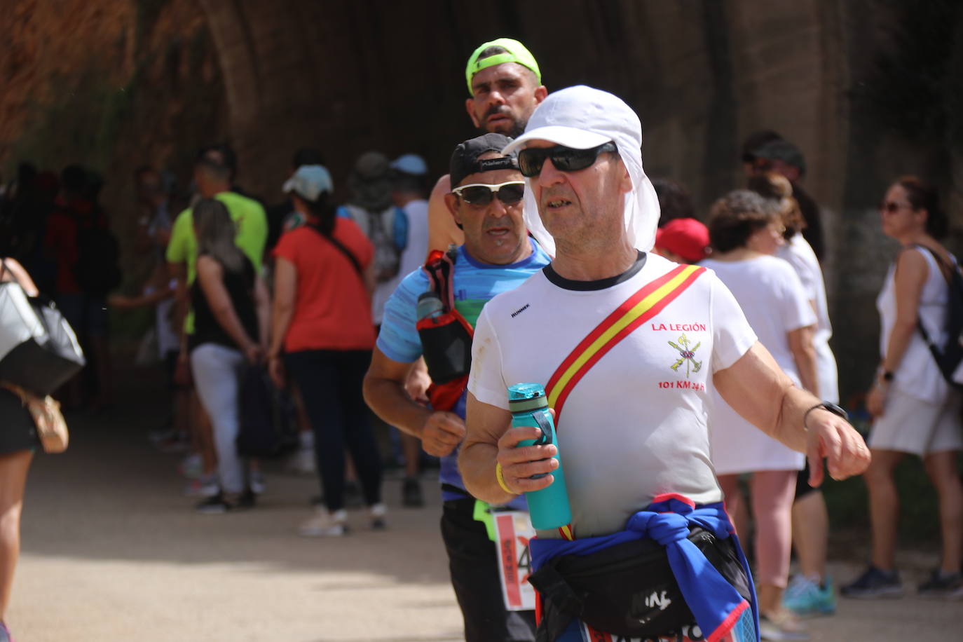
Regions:
<svg viewBox="0 0 963 642"><path fill-rule="evenodd" d="M420 153L442 173L453 144L473 133L464 62L499 36L530 47L549 90L585 83L633 105L646 170L684 182L702 213L742 184L746 135L775 129L801 147L805 187L824 210L845 400L877 360L872 301L895 249L874 211L886 185L931 176L958 224L952 115L963 98L947 79L961 77L952 72L963 68L963 38L952 36L963 35L963 12L949 0L5 5L3 174L27 159L98 169L121 237L133 222L132 169L169 167L187 181L209 141L235 145L241 184L267 201L306 144L324 150L336 183L372 148Z"/></svg>

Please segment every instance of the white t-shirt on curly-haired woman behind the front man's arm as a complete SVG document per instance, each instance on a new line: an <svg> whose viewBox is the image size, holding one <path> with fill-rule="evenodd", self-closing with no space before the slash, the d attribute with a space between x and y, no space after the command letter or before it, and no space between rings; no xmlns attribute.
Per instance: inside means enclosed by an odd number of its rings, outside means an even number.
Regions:
<svg viewBox="0 0 963 642"><path fill-rule="evenodd" d="M796 385L793 352L787 334L816 323L802 283L793 267L774 256L745 261L714 261L700 265L715 270L719 279L739 301L745 318L759 341ZM716 395L716 411L710 424L713 464L719 475L752 471L801 470L804 456L749 424Z"/></svg>

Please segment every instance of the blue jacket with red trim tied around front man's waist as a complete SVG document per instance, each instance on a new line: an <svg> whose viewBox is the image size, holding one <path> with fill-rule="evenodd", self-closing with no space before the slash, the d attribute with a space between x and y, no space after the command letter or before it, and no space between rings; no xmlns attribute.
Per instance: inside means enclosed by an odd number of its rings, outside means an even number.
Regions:
<svg viewBox="0 0 963 642"><path fill-rule="evenodd" d="M644 510L629 518L626 529L612 535L587 537L575 541L534 538L530 543L534 570L560 555L587 555L616 544L649 538L665 547L669 566L695 622L708 642L716 642L728 634L743 618L750 617L759 640L759 613L749 567L722 502L696 507L688 498L661 495ZM742 568L749 579L752 603L746 602L723 578L716 567L688 539L692 526L700 526L718 539L735 538ZM746 612L748 610L748 612ZM743 638L744 639L744 638Z"/></svg>

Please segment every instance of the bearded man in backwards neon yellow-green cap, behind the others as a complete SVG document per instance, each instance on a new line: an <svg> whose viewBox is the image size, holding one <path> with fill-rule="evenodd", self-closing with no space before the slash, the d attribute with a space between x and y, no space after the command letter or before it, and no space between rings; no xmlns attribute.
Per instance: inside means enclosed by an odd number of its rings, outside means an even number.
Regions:
<svg viewBox="0 0 963 642"><path fill-rule="evenodd" d="M521 135L535 107L548 95L532 52L510 38L482 43L465 65L465 81L471 96L465 100L465 110L481 134L504 134L509 138ZM445 207L445 194L451 191L447 174L438 179L431 191L429 251L445 251L450 244L465 242Z"/></svg>

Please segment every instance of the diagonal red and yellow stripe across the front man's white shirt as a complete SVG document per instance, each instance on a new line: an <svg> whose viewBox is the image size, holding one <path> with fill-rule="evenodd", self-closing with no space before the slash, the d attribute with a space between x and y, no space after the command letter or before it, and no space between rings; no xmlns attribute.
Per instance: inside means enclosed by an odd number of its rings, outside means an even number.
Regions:
<svg viewBox="0 0 963 642"><path fill-rule="evenodd" d="M548 405L555 409L556 426L559 425L565 400L586 372L639 325L662 312L666 305L685 292L704 271L706 269L699 266L679 266L646 283L596 325L565 357L545 386ZM570 526L561 526L559 532L564 539L574 539Z"/></svg>

